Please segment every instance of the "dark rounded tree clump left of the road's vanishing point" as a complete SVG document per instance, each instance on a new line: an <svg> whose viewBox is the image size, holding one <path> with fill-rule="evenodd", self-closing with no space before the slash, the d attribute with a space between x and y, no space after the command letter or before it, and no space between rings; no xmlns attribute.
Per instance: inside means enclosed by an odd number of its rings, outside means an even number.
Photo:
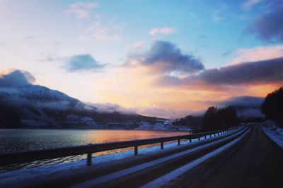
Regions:
<svg viewBox="0 0 283 188"><path fill-rule="evenodd" d="M211 106L204 113L204 131L222 130L235 127L236 125L238 125L237 112L235 108L231 106L224 108Z"/></svg>

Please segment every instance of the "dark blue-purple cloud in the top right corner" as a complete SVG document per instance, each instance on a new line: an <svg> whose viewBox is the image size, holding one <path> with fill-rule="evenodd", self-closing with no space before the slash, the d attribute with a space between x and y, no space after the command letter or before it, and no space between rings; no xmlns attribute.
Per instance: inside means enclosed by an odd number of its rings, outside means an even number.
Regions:
<svg viewBox="0 0 283 188"><path fill-rule="evenodd" d="M266 42L283 42L283 2L272 2L270 11L250 24L247 31Z"/></svg>

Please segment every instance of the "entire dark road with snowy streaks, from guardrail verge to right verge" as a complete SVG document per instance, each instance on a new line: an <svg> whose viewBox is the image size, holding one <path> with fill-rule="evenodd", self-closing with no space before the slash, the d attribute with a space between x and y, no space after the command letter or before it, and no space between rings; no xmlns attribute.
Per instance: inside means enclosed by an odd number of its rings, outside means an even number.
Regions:
<svg viewBox="0 0 283 188"><path fill-rule="evenodd" d="M67 170L57 175L25 181L21 183L21 187L132 188L144 185L159 187L162 184L165 184L163 187L282 187L282 149L270 141L258 125L260 123L251 125L251 130L247 125L231 134L134 156L127 160L92 165L76 171ZM231 142L236 144L188 171L180 171L180 168L190 166L197 159ZM179 172L177 175L175 173L171 178L166 177L165 181L162 179L164 175L176 171ZM156 180L161 184L151 186L151 182ZM10 184L9 187L19 187L19 184Z"/></svg>

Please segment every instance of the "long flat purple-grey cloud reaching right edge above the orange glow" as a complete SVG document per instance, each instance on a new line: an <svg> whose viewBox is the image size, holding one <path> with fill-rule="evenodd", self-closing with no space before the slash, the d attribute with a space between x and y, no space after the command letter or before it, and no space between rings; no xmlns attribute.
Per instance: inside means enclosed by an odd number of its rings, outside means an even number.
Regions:
<svg viewBox="0 0 283 188"><path fill-rule="evenodd" d="M197 77L206 84L259 84L282 82L283 58L241 63L204 70Z"/></svg>

